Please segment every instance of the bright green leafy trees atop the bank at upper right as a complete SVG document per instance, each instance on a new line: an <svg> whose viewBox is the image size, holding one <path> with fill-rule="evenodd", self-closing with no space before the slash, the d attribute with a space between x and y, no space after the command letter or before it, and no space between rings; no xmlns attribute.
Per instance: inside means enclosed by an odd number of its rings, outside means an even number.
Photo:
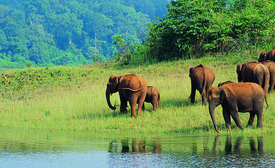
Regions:
<svg viewBox="0 0 275 168"><path fill-rule="evenodd" d="M147 43L158 60L264 46L275 41L274 6L266 0L171 1L163 19L148 24Z"/></svg>

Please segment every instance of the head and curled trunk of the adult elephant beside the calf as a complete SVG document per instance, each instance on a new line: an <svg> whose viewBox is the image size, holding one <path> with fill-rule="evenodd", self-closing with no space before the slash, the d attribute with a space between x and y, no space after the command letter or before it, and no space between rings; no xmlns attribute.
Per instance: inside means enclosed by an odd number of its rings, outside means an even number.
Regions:
<svg viewBox="0 0 275 168"><path fill-rule="evenodd" d="M118 92L118 77L117 76L110 76L109 82L107 83L107 89L106 89L106 99L109 108L112 110L116 110L116 107L113 107L110 102L110 94Z"/></svg>

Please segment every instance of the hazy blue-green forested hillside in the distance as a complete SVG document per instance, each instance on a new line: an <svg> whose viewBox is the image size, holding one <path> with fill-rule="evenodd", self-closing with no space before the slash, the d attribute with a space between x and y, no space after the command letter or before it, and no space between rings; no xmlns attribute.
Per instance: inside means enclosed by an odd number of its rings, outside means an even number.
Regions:
<svg viewBox="0 0 275 168"><path fill-rule="evenodd" d="M114 37L141 43L167 0L1 0L0 67L108 60Z"/></svg>

